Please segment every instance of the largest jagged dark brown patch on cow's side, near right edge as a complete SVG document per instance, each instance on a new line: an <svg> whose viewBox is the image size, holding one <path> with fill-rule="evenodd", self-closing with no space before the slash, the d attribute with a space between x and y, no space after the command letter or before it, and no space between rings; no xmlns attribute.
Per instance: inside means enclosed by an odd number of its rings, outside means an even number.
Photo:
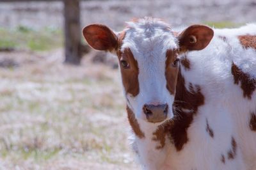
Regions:
<svg viewBox="0 0 256 170"><path fill-rule="evenodd" d="M244 73L234 63L232 64L231 72L234 76L234 83L239 84L241 82L244 98L251 99L252 93L256 89L256 79L252 79L248 73Z"/></svg>

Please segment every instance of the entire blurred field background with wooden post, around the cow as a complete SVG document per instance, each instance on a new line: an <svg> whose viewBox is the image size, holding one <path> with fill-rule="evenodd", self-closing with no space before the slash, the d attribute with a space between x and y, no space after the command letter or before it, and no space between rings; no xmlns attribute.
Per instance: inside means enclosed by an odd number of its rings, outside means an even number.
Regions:
<svg viewBox="0 0 256 170"><path fill-rule="evenodd" d="M256 16L255 0L12 1L0 0L0 169L139 169L117 59L90 49L84 26L121 31L152 16L222 28Z"/></svg>

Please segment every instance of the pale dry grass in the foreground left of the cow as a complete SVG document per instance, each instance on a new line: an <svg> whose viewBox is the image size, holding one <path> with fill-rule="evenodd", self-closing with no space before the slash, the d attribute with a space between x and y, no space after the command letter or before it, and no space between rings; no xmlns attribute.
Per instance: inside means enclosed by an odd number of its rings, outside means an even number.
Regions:
<svg viewBox="0 0 256 170"><path fill-rule="evenodd" d="M61 56L0 54L0 169L137 169L118 70Z"/></svg>

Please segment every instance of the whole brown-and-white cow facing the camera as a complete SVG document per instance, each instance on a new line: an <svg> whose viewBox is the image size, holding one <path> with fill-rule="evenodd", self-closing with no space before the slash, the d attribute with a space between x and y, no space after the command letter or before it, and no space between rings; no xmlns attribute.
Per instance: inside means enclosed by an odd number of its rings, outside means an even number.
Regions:
<svg viewBox="0 0 256 170"><path fill-rule="evenodd" d="M83 36L116 54L143 169L256 169L256 25L174 29L145 17Z"/></svg>

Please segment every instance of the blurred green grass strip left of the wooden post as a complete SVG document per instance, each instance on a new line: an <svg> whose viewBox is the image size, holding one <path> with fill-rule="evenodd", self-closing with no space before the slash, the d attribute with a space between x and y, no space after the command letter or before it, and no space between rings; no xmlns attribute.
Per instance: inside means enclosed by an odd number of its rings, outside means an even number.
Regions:
<svg viewBox="0 0 256 170"><path fill-rule="evenodd" d="M0 28L0 49L52 50L63 44L62 31L51 27L34 30L26 26ZM49 43L51 42L51 43Z"/></svg>

